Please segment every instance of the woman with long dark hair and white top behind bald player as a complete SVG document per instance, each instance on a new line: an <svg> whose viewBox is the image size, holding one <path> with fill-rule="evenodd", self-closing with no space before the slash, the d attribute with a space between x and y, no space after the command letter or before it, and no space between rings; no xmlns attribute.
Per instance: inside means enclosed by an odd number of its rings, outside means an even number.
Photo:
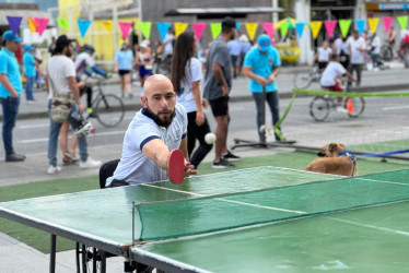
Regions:
<svg viewBox="0 0 409 273"><path fill-rule="evenodd" d="M202 79L201 62L195 58L198 49L194 33L180 34L173 48L172 83L177 94L176 102L186 108L187 112L187 147L190 164L196 168L212 149L207 144L204 135L210 132L210 127L202 109L200 94L200 80ZM204 105L204 104L203 104ZM194 152L196 140L199 147Z"/></svg>

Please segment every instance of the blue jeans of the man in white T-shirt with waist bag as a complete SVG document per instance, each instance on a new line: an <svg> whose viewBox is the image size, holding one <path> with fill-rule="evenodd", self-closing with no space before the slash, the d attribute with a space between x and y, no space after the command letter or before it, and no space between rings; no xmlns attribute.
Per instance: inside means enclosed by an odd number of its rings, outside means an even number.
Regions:
<svg viewBox="0 0 409 273"><path fill-rule="evenodd" d="M78 111L77 104L72 103L72 111ZM73 129L77 129L81 121L73 118L71 114L68 116L68 121L71 123ZM62 123L57 123L51 119L51 99L48 100L48 116L49 116L49 136L48 136L48 164L57 166L57 149L58 149L58 135L60 134L60 128ZM86 161L87 154L87 142L86 136L78 135L78 146L80 149L81 161Z"/></svg>

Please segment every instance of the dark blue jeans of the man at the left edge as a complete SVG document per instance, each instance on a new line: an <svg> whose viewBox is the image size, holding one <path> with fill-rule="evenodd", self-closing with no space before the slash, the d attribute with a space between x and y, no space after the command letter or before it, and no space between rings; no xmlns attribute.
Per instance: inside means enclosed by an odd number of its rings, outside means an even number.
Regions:
<svg viewBox="0 0 409 273"><path fill-rule="evenodd" d="M13 128L15 120L17 119L20 96L13 97L0 97L0 103L3 108L3 144L5 154L14 153L13 149Z"/></svg>

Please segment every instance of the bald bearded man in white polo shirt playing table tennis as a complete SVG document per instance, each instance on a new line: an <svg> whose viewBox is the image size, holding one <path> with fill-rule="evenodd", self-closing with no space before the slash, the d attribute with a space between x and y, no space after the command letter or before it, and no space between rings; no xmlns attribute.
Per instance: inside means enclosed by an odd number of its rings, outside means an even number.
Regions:
<svg viewBox="0 0 409 273"><path fill-rule="evenodd" d="M167 179L170 151L180 149L188 162L187 115L176 104L172 82L164 75L147 79L143 108L130 122L124 138L122 155L114 176L106 180L106 187L118 187ZM185 176L196 175L187 169Z"/></svg>

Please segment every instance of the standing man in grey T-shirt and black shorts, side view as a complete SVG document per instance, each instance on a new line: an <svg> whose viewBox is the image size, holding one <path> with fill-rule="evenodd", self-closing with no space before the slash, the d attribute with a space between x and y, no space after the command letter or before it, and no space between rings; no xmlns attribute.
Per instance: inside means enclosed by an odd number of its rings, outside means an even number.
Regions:
<svg viewBox="0 0 409 273"><path fill-rule="evenodd" d="M232 88L232 62L229 55L229 40L234 39L236 22L232 17L222 21L222 33L212 41L206 61L203 97L210 103L215 122L215 154L213 168L234 167L230 161L239 159L227 150L230 123L229 93Z"/></svg>

